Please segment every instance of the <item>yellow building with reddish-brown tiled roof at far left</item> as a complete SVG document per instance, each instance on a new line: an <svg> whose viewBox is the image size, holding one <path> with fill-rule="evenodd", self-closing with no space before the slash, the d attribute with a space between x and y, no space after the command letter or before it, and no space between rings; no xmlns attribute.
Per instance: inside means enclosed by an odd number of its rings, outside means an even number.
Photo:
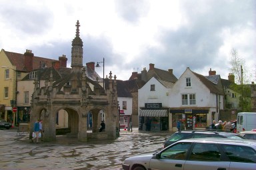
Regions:
<svg viewBox="0 0 256 170"><path fill-rule="evenodd" d="M4 49L0 52L0 116L2 119L17 125L19 114L29 114L30 104L26 100L21 104L18 98L23 98L23 94L18 89L19 82L27 75L36 78L37 72L45 66L57 66L58 60L34 56L31 50L26 50L24 54L9 52ZM30 94L31 95L31 94ZM27 98L29 96L25 96ZM24 119L27 120L27 118Z"/></svg>

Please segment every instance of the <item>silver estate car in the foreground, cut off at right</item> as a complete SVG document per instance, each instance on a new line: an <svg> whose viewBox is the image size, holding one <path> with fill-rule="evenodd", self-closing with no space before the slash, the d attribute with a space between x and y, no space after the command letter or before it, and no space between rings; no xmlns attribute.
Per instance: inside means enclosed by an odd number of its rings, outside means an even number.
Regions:
<svg viewBox="0 0 256 170"><path fill-rule="evenodd" d="M256 141L227 138L184 139L153 154L125 159L124 170L255 169Z"/></svg>

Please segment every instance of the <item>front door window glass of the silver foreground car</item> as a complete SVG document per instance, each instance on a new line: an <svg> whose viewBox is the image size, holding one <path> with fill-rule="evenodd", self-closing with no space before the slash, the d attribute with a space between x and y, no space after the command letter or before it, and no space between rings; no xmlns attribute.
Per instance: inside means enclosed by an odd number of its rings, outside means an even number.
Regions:
<svg viewBox="0 0 256 170"><path fill-rule="evenodd" d="M177 143L161 153L161 159L185 159L191 143Z"/></svg>

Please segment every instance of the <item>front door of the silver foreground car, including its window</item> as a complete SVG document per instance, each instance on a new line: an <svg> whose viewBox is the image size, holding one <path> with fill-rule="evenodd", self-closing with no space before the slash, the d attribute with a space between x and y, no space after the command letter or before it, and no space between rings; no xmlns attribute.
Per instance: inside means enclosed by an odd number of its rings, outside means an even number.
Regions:
<svg viewBox="0 0 256 170"><path fill-rule="evenodd" d="M151 159L149 168L183 170L187 152L190 147L191 142L180 142L167 147L167 149L161 151L161 153L157 153L156 159Z"/></svg>

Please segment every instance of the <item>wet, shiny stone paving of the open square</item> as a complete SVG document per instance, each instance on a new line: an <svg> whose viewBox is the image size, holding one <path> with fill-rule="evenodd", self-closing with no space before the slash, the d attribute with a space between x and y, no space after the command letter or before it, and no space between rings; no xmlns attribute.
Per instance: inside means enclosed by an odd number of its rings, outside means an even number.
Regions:
<svg viewBox="0 0 256 170"><path fill-rule="evenodd" d="M0 169L122 169L127 157L155 153L171 133L120 131L113 141L79 142L57 136L52 143L31 143L28 134L0 129Z"/></svg>

